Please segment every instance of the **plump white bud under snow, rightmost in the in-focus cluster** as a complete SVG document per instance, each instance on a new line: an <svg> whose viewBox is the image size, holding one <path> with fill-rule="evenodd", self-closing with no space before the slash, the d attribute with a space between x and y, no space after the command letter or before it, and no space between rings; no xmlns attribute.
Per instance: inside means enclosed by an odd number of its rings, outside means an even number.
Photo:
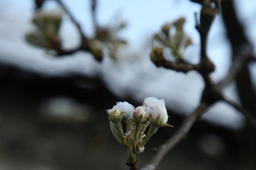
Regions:
<svg viewBox="0 0 256 170"><path fill-rule="evenodd" d="M152 120L156 120L157 116L160 114L160 124L164 124L168 120L167 110L164 105L155 105L152 109Z"/></svg>

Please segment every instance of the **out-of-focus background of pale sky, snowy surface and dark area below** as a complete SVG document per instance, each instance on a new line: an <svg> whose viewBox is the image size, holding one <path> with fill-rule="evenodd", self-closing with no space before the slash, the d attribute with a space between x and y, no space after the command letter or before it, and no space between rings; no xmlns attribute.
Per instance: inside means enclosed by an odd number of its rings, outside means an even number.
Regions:
<svg viewBox="0 0 256 170"><path fill-rule="evenodd" d="M93 37L91 1L63 2L84 33ZM235 5L255 46L256 3L236 0ZM51 0L43 8L60 10ZM149 58L152 36L165 22L185 17L184 29L193 44L186 49L184 59L197 63L200 39L194 12L200 9L189 0L98 0L100 26L111 27L123 20L128 23L119 34L128 45L119 49L117 60L105 53L100 63L89 53L56 58L29 45L24 37L34 28L34 1L0 0L0 169L127 169L126 150L111 134L106 109L117 101L137 107L154 96L165 100L168 123L175 128L161 128L149 140L145 151L137 156L138 166L145 165L157 146L179 127L183 116L197 107L204 88L203 79L194 71L184 74L156 68ZM76 47L79 35L68 16L63 15L60 29L64 47ZM221 14L212 24L207 52L216 66L212 78L218 82L228 74L231 61ZM254 83L255 68L250 65ZM234 83L224 93L239 102ZM244 116L235 109L221 102L215 104L158 169L255 169L244 162L250 157L242 147L250 142L241 140L245 124ZM253 138L255 131L247 135Z"/></svg>

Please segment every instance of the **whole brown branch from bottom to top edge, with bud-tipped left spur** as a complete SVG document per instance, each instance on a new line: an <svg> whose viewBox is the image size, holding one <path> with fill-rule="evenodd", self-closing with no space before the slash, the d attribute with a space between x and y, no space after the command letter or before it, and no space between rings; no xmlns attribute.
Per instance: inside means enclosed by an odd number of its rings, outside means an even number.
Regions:
<svg viewBox="0 0 256 170"><path fill-rule="evenodd" d="M197 3L201 3L202 10L200 14L200 23L196 19L196 29L200 34L201 38L201 60L197 65L193 65L187 63L183 60L179 60L174 63L171 61L166 61L163 55L163 50L160 47L155 47L152 49L150 54L151 60L158 67L165 67L168 69L187 72L189 70L197 70L205 82L205 89L201 96L201 103L194 111L193 114L189 115L180 126L179 130L169 138L167 142L161 145L160 149L156 153L156 155L151 159L151 161L144 166L141 170L154 170L159 162L163 159L164 155L169 152L176 144L180 142L181 139L188 133L193 124L196 122L198 117L204 113L204 111L214 104L218 100L222 100L223 96L219 88L212 83L212 80L209 76L209 73L215 69L213 63L209 60L206 55L206 39L207 34L210 30L210 26L212 24L215 15L219 12L219 4L218 2L212 1L215 4L215 7L212 8L212 4L210 0L204 1L196 1Z"/></svg>

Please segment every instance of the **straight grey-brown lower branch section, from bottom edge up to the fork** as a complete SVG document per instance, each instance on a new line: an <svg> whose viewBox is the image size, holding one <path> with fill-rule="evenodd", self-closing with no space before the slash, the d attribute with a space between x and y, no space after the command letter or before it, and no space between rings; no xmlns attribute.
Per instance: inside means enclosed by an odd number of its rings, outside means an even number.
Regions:
<svg viewBox="0 0 256 170"><path fill-rule="evenodd" d="M169 150L171 150L176 144L183 139L196 120L204 113L204 111L209 107L209 105L201 103L199 107L196 108L193 114L189 115L182 123L178 131L169 138L164 144L159 147L159 150L156 152L155 156L151 159L151 161L141 168L141 170L154 170L156 166L160 163L163 157L166 155Z"/></svg>

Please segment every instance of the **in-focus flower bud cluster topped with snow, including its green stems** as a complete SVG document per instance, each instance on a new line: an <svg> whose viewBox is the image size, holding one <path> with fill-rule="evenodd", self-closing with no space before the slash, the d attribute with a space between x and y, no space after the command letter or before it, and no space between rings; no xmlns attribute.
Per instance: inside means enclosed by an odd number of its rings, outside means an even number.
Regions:
<svg viewBox="0 0 256 170"><path fill-rule="evenodd" d="M168 115L164 100L155 97L146 98L143 105L136 108L126 101L117 102L107 113L112 133L119 143L127 148L129 164L136 161L136 153L144 151L144 145L159 127L171 126L166 123ZM145 134L149 125L148 133Z"/></svg>

